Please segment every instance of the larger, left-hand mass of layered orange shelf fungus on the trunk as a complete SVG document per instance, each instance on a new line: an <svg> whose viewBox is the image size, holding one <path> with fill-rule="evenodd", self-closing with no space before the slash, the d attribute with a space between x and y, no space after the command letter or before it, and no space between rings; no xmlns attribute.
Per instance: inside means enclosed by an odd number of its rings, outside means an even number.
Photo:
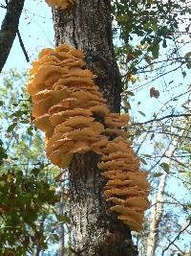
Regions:
<svg viewBox="0 0 191 256"><path fill-rule="evenodd" d="M75 152L100 154L108 144L96 116L103 119L109 110L83 58L63 44L44 49L30 71L34 124L46 134L47 157L60 168L69 166Z"/></svg>

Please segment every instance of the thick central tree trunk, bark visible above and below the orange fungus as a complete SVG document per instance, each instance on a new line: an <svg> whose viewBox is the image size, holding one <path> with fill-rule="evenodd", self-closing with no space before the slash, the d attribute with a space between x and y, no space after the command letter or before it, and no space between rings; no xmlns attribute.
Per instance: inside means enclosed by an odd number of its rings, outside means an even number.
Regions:
<svg viewBox="0 0 191 256"><path fill-rule="evenodd" d="M110 110L119 112L122 85L114 53L111 1L77 0L69 11L53 10L53 22L56 46L67 43L84 52ZM98 160L94 152L76 153L70 166L74 255L138 255L130 230L107 211Z"/></svg>

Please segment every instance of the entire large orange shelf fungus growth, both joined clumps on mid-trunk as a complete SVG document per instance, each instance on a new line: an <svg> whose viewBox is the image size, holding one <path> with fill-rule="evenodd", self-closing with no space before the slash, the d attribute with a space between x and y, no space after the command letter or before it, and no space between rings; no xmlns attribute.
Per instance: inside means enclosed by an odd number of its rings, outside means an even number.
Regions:
<svg viewBox="0 0 191 256"><path fill-rule="evenodd" d="M32 62L27 88L34 124L45 132L47 157L60 168L69 167L76 152L100 154L98 168L107 179L104 193L110 209L139 231L148 207L148 182L124 139L121 128L129 119L108 110L83 58L81 51L63 44L44 49Z"/></svg>

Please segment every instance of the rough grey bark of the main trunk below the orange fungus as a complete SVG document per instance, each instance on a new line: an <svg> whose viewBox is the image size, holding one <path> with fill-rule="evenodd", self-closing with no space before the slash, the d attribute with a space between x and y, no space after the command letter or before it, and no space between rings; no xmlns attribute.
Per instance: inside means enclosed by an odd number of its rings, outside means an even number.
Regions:
<svg viewBox="0 0 191 256"><path fill-rule="evenodd" d="M75 154L71 166L71 215L77 255L137 255L131 233L115 215L107 212L104 181L97 169L98 156Z"/></svg>

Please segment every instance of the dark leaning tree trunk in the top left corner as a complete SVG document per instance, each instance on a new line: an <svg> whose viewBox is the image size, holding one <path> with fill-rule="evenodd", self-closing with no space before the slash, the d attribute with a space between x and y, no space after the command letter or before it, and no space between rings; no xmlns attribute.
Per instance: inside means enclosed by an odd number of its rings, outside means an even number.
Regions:
<svg viewBox="0 0 191 256"><path fill-rule="evenodd" d="M10 0L0 30L0 72L10 54L11 46L18 31L19 18L25 0Z"/></svg>

